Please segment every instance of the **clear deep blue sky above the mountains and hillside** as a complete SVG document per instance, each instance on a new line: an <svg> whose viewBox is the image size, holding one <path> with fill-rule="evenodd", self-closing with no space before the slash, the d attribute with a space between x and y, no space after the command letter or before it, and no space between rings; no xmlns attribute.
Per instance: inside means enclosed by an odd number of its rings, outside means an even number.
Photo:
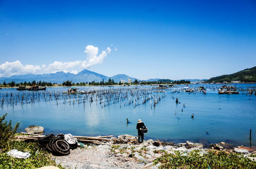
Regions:
<svg viewBox="0 0 256 169"><path fill-rule="evenodd" d="M234 73L256 66L256 1L0 0L0 58L2 77L83 68L141 80Z"/></svg>

